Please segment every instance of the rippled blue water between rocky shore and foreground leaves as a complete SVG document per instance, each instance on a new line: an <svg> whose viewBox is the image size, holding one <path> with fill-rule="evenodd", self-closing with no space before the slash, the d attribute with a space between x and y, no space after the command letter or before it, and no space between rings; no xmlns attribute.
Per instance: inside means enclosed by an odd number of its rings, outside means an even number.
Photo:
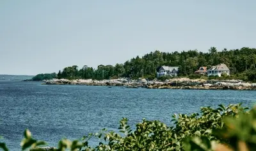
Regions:
<svg viewBox="0 0 256 151"><path fill-rule="evenodd" d="M173 113L193 113L201 106L244 102L252 106L256 91L147 90L123 87L42 85L0 82L0 135L10 150L20 150L22 132L56 146L61 138L79 139L102 128L116 130L118 121L161 120Z"/></svg>

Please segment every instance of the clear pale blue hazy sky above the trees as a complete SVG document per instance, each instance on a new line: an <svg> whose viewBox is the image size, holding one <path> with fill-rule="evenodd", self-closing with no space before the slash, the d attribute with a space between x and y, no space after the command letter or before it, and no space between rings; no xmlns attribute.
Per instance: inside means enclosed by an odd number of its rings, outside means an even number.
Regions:
<svg viewBox="0 0 256 151"><path fill-rule="evenodd" d="M0 1L0 74L115 65L150 51L255 47L256 1Z"/></svg>

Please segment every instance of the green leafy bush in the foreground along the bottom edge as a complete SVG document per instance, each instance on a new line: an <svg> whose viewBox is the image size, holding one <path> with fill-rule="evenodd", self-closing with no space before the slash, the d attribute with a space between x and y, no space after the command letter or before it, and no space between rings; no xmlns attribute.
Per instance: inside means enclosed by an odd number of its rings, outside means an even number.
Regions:
<svg viewBox="0 0 256 151"><path fill-rule="evenodd" d="M200 113L173 115L173 126L159 121L143 120L132 131L127 118L120 121L119 131L102 131L83 137L83 141L63 139L57 149L52 150L256 150L256 108L248 111L241 104L217 109L202 107ZM100 138L97 147L90 147L88 141ZM39 145L26 130L22 150ZM8 150L4 143L0 148Z"/></svg>

